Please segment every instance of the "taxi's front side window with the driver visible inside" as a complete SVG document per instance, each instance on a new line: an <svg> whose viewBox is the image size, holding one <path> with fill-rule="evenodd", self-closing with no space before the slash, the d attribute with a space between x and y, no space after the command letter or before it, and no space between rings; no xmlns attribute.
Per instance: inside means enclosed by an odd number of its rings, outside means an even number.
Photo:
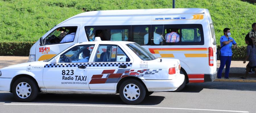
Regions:
<svg viewBox="0 0 256 113"><path fill-rule="evenodd" d="M85 63L88 62L94 45L79 45L75 46L59 58L59 63Z"/></svg>

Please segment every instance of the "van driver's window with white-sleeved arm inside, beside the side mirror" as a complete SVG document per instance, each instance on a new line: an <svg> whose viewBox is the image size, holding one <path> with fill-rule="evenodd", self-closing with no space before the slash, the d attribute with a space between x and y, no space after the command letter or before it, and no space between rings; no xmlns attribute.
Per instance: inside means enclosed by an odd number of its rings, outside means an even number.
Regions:
<svg viewBox="0 0 256 113"><path fill-rule="evenodd" d="M77 27L59 27L51 32L43 41L45 45L73 42Z"/></svg>

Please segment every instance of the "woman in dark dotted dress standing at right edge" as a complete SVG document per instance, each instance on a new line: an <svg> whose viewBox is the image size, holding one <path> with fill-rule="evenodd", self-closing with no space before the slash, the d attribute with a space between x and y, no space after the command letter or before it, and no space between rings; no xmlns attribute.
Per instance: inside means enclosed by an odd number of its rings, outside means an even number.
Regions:
<svg viewBox="0 0 256 113"><path fill-rule="evenodd" d="M247 48L246 48L247 55L246 55L243 63L245 64L245 62L248 58L249 58L249 63L246 66L245 77L240 77L242 79L246 79L250 68L252 68L256 72L256 55L255 55L256 49L255 49L255 45L253 44L253 40L249 37L245 37L245 43L247 44Z"/></svg>

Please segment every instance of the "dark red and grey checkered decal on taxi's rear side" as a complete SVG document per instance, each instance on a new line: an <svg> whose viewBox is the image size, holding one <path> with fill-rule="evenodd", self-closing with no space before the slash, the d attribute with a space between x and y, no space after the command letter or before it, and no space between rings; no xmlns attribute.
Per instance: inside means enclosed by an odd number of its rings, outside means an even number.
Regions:
<svg viewBox="0 0 256 113"><path fill-rule="evenodd" d="M105 84L105 83L117 83L121 78L127 76L134 76L134 77L143 77L144 75L154 75L158 73L162 69L154 69L149 71L149 69L109 69L103 70L100 75L92 75L91 81L89 84ZM103 76L106 78L102 78Z"/></svg>

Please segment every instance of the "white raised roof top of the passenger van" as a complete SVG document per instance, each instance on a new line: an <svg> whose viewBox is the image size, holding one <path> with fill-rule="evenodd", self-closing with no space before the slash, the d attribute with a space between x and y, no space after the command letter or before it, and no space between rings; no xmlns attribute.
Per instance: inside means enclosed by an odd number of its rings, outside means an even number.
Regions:
<svg viewBox="0 0 256 113"><path fill-rule="evenodd" d="M203 8L168 8L168 9L131 9L131 10L101 10L77 14L77 16L102 16L102 15L140 15L140 14L190 14L204 13Z"/></svg>

